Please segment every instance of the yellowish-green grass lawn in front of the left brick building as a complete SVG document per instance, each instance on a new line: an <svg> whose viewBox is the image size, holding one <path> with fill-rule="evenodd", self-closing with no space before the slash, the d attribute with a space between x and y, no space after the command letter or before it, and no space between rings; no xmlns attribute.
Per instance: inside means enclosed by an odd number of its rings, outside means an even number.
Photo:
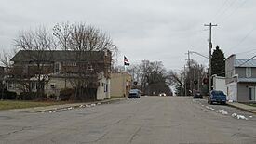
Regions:
<svg viewBox="0 0 256 144"><path fill-rule="evenodd" d="M45 107L45 106L65 104L65 103L68 103L68 102L63 102L63 101L0 100L0 110Z"/></svg>

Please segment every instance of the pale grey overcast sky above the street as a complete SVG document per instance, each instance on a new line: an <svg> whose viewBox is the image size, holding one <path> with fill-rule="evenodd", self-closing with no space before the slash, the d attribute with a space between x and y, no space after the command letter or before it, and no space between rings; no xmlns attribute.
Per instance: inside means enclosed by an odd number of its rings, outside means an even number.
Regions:
<svg viewBox="0 0 256 144"><path fill-rule="evenodd" d="M108 33L131 64L163 61L181 70L188 50L209 56L212 43L225 53L249 59L256 53L255 0L0 0L0 50L13 48L22 30L56 23L86 22ZM192 55L199 63L208 59Z"/></svg>

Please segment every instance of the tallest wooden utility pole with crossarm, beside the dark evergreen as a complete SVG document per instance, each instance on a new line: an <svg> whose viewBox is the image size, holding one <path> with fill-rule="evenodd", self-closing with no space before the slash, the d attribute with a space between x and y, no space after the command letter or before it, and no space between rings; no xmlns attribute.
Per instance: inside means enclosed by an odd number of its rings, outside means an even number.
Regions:
<svg viewBox="0 0 256 144"><path fill-rule="evenodd" d="M212 49L212 43L211 43L211 27L217 26L217 24L205 24L205 26L209 27L209 95L211 90L211 49Z"/></svg>

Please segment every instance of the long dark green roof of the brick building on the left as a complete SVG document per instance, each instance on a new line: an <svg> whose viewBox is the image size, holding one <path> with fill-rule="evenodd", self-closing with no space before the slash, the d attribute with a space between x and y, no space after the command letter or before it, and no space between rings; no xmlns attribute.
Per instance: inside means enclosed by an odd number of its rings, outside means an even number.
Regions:
<svg viewBox="0 0 256 144"><path fill-rule="evenodd" d="M20 50L11 61L99 61L103 60L105 53L103 51L64 51L64 50Z"/></svg>

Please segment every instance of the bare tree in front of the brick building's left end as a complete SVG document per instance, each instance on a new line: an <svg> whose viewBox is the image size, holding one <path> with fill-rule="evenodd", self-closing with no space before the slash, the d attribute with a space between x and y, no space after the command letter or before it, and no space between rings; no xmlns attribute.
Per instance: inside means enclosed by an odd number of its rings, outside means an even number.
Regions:
<svg viewBox="0 0 256 144"><path fill-rule="evenodd" d="M44 94L44 85L47 80L46 73L51 71L50 67L53 66L50 53L46 53L46 51L49 52L56 48L53 37L48 33L47 28L39 27L35 29L35 31L20 33L19 37L15 39L15 46L23 53L21 54L21 61L14 65L14 70L15 66L18 66L23 69L22 72L28 76L28 79L30 77L35 77L38 85L37 96L42 96ZM31 63L29 65L24 65L24 61L26 60L31 61Z"/></svg>

